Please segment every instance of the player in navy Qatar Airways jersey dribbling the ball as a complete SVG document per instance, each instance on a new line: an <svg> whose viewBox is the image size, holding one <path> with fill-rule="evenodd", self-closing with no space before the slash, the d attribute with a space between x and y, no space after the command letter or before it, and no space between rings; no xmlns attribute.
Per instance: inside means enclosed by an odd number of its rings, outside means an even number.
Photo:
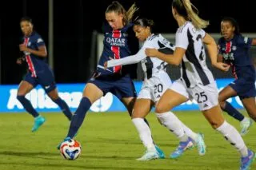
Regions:
<svg viewBox="0 0 256 170"><path fill-rule="evenodd" d="M110 56L118 59L138 51L138 41L134 36L133 24L131 23L136 10L138 8L133 5L126 11L119 2L115 1L107 7L105 13L107 23L103 27L105 38L103 40L102 56L98 61L96 72L86 84L82 100L74 113L69 132L64 141L74 138L90 106L108 92L113 93L122 101L131 116L137 94L130 77L130 70L122 65L105 69L104 63L110 60ZM132 45L135 46L133 47ZM136 69L134 71L136 72ZM59 147L60 144L58 145ZM158 147L156 148L159 156L164 157L162 151Z"/></svg>

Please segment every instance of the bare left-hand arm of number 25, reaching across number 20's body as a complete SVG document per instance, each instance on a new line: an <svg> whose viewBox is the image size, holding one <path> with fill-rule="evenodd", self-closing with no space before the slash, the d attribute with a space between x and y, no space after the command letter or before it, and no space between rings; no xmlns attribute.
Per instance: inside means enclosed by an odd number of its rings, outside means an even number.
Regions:
<svg viewBox="0 0 256 170"><path fill-rule="evenodd" d="M166 54L158 51L158 49L146 48L146 56L158 57L162 61L166 61L170 65L179 65L182 62L182 57L185 55L186 49L176 47L173 54Z"/></svg>

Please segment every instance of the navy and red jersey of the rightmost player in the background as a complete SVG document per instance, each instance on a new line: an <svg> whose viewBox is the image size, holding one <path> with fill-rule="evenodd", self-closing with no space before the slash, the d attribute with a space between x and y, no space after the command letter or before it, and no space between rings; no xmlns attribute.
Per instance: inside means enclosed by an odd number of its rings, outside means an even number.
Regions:
<svg viewBox="0 0 256 170"><path fill-rule="evenodd" d="M231 65L235 78L255 77L252 58L250 57L251 38L242 35L234 35L230 41L224 38L218 40L219 53L222 54L224 62Z"/></svg>

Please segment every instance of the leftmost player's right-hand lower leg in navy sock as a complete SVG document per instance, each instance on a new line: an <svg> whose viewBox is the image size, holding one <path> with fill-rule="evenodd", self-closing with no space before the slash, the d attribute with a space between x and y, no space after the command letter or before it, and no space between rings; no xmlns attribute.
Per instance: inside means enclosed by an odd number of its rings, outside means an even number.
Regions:
<svg viewBox="0 0 256 170"><path fill-rule="evenodd" d="M73 115L70 111L69 106L66 105L66 102L63 101L62 98L58 96L58 89L55 87L54 89L48 92L46 91L46 93L50 97L50 99L54 101L54 103L56 103L60 109L62 109L62 112L68 118L68 120L71 121Z"/></svg>

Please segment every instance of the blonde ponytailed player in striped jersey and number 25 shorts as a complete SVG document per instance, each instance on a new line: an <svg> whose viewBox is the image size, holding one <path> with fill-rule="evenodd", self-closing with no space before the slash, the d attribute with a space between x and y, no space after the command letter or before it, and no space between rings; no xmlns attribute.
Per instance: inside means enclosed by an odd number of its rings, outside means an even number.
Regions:
<svg viewBox="0 0 256 170"><path fill-rule="evenodd" d="M172 13L179 26L176 32L174 54L161 53L157 49L145 50L147 56L158 57L172 65L181 65L182 69L181 79L175 81L158 101L156 113L160 121L167 125L166 120L170 109L194 98L198 101L199 109L210 125L221 132L226 140L229 140L230 144L240 152L240 169L249 169L255 154L246 147L239 132L222 116L222 109L218 105L217 85L206 65L204 44L209 51L212 65L223 71L229 69L229 65L217 61L217 45L214 39L202 30L208 26L209 22L199 18L195 10L197 9L189 0L172 2ZM181 145L180 148L183 147Z"/></svg>

